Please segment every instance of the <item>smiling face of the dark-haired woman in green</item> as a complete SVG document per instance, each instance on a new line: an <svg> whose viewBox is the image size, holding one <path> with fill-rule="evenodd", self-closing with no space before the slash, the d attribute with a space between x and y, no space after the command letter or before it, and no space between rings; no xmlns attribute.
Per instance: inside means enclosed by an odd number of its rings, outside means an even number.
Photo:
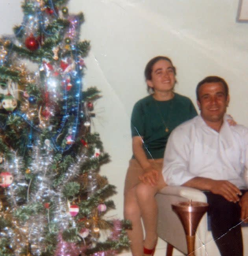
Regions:
<svg viewBox="0 0 248 256"><path fill-rule="evenodd" d="M172 64L164 59L157 61L152 67L152 79L146 82L155 93L172 91L176 83Z"/></svg>

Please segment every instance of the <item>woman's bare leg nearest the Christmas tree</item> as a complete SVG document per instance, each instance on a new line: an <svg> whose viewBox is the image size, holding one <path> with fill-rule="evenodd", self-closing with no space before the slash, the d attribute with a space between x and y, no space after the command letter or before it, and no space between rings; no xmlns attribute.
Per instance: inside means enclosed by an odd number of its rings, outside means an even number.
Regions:
<svg viewBox="0 0 248 256"><path fill-rule="evenodd" d="M132 222L132 230L127 230L132 255L143 256L143 228L135 187L126 191L124 195L124 218Z"/></svg>

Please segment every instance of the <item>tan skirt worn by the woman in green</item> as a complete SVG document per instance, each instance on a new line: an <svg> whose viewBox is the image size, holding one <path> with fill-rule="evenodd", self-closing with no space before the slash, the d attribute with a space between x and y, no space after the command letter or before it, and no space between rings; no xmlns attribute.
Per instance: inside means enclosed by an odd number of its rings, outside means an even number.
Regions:
<svg viewBox="0 0 248 256"><path fill-rule="evenodd" d="M148 159L152 167L162 173L163 158ZM135 187L139 182L139 176L144 173L143 168L136 159L129 161L129 167L125 179L124 194L131 188Z"/></svg>

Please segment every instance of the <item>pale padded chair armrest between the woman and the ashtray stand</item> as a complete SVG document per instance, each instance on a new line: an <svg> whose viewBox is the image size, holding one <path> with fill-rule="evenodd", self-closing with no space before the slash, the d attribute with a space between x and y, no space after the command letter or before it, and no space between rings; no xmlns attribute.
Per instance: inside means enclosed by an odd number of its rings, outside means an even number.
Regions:
<svg viewBox="0 0 248 256"><path fill-rule="evenodd" d="M205 194L201 190L194 189L192 187L165 186L158 193L163 195L184 197L193 201L207 202L207 197Z"/></svg>

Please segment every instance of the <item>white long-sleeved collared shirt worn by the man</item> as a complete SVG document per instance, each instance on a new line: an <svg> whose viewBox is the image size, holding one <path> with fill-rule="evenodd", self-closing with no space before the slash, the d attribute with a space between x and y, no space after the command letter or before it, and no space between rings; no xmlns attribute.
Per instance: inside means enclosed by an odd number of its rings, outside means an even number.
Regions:
<svg viewBox="0 0 248 256"><path fill-rule="evenodd" d="M198 115L170 134L164 156L164 180L168 185L178 186L198 176L247 187L246 148L248 128L229 126L224 121L218 133Z"/></svg>

